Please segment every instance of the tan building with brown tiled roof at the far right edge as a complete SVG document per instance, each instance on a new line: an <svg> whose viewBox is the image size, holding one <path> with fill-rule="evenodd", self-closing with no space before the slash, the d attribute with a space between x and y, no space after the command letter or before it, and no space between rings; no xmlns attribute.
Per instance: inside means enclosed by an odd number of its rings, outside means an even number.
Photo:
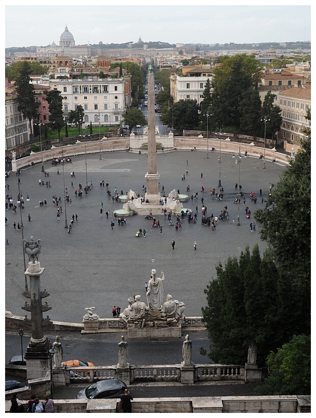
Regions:
<svg viewBox="0 0 316 418"><path fill-rule="evenodd" d="M310 86L291 87L278 94L278 106L282 110L282 126L279 138L299 145L304 138L303 129L308 125L307 109L310 109Z"/></svg>

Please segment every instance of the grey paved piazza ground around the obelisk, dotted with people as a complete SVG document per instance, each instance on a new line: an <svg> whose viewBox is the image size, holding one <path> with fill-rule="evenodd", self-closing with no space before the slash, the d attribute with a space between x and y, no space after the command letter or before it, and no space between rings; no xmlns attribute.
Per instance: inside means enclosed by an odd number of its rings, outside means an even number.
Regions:
<svg viewBox="0 0 316 418"><path fill-rule="evenodd" d="M106 211L111 214L114 209L122 208L122 203L112 203L107 196L107 189L100 187L100 181L109 181L109 189L114 194L123 190L134 190L144 195L142 191L147 172L147 154L131 152L111 152L87 155L88 181L93 182L93 189L88 196L81 199L74 195L78 184L86 184L85 156L74 157L72 164L65 164L65 187L72 199L72 205L67 203L67 221L72 214L77 213L78 222L74 223L71 233L65 228L65 204L60 221L57 220L57 208L52 204L52 196L63 198L63 170L59 164L56 167L51 162L44 164L49 177L41 173L41 165L22 169L20 188L23 191L25 210L22 212L24 224L24 238L31 236L42 241L40 254L42 289L46 289L50 296L44 300L52 309L44 312L44 317L62 322L81 322L85 308L95 306L95 312L100 318L111 318L113 305L119 305L123 310L127 306L127 298L135 294L141 295L146 301L145 282L150 278L151 269L155 268L157 277L161 271L165 273L164 298L171 294L173 298L185 302L186 316L201 316L201 307L205 306L204 289L212 277L216 277L218 262L225 264L228 255L239 255L245 246L250 248L259 242L260 251L264 251L266 243L259 239L258 225L255 232L250 231L249 224L253 220L253 213L257 207L262 207L259 190L264 196L270 183L276 183L284 166L258 158L242 158L240 163L240 184L246 196L246 206L251 211L251 219L246 219L243 200L240 204L240 226L233 225L237 219L238 205L233 203L236 197L235 183L239 182L239 167L235 164L232 154L222 153L221 183L224 188L224 200L217 201L210 196L210 189L218 192L219 182L219 152L206 151L174 151L157 154L157 171L160 174L160 191L162 186L168 194L173 189L179 189L186 194L190 185L190 201L186 206L192 208L193 214L198 206L197 223L189 224L183 220L182 229L175 231L175 227L168 226L164 216L156 216L163 226L163 234L159 229L151 228L151 221L144 216L127 218L126 225L115 223L111 229L113 216L107 219ZM186 161L189 161L188 165ZM57 169L60 175L57 175ZM181 175L186 174L186 180ZM75 178L70 172L74 171ZM203 173L203 178L201 178ZM44 178L43 178L44 177ZM39 186L39 178L49 180L51 188ZM71 180L74 187L71 188ZM18 177L11 173L6 181L10 185L10 194L18 190ZM205 193L202 195L202 186ZM198 199L191 202L191 195L198 192ZM256 205L250 201L250 193L258 196ZM29 194L30 202L26 201ZM16 193L12 193L16 203ZM207 207L207 216L219 216L225 205L228 206L230 219L218 220L216 231L201 225L201 197ZM47 207L40 207L39 200L47 200ZM100 202L103 202L103 214L100 216ZM24 316L29 312L21 309L25 299L24 268L22 254L21 231L13 229L13 222L20 222L20 211L16 213L5 211L8 218L6 228L6 309L14 315ZM31 222L28 214L31 214ZM174 220L175 217L172 217ZM146 237L136 238L139 228L146 229ZM172 250L171 241L175 240ZM193 243L196 241L197 250ZM27 259L28 260L28 259Z"/></svg>

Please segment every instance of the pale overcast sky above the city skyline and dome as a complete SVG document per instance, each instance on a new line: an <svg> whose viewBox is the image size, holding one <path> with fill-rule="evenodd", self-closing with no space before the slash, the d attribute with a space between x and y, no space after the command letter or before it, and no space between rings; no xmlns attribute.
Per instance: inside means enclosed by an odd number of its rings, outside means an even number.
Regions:
<svg viewBox="0 0 316 418"><path fill-rule="evenodd" d="M310 2L10 2L5 6L5 47L59 45L67 25L76 45L162 41L169 43L257 43L311 40ZM87 2L85 2L87 4ZM124 4L125 3L125 4ZM214 2L215 3L215 2ZM277 3L277 6L275 4ZM297 2L298 3L298 2ZM104 6L104 4L107 4ZM152 3L151 3L152 4ZM171 5L170 5L171 4ZM206 5L207 4L207 5ZM231 5L234 4L234 5Z"/></svg>

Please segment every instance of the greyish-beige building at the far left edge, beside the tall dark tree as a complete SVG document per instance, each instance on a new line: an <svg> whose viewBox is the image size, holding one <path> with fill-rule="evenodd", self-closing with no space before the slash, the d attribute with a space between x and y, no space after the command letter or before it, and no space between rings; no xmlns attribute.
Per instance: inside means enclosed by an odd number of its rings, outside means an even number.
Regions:
<svg viewBox="0 0 316 418"><path fill-rule="evenodd" d="M30 123L17 110L15 86L6 79L5 88L5 150L16 149L19 145L29 141L31 136Z"/></svg>

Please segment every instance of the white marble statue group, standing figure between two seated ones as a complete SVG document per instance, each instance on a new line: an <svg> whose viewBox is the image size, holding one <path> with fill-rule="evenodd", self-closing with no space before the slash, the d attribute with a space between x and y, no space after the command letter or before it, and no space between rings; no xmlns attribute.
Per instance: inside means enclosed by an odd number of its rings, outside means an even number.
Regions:
<svg viewBox="0 0 316 418"><path fill-rule="evenodd" d="M147 303L141 302L140 295L128 298L128 307L120 314L119 319L131 328L155 327L164 328L178 326L185 320L185 304L173 300L171 295L164 302L165 274L156 277L156 271L151 270L151 278L148 281L146 293Z"/></svg>

